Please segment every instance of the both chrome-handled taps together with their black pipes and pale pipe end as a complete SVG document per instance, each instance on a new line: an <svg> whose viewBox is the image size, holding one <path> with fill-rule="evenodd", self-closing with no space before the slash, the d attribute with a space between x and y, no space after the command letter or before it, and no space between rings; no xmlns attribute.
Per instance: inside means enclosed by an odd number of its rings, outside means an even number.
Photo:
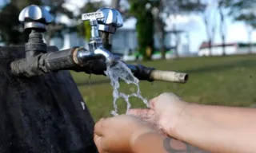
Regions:
<svg viewBox="0 0 256 153"><path fill-rule="evenodd" d="M91 37L89 50L73 47L61 51L49 52L42 40L46 26L53 21L50 13L43 7L31 5L22 10L19 21L24 29L30 31L30 38L25 45L26 57L11 62L11 72L17 77L35 77L60 70L105 75L108 66L121 61L111 53L110 34L122 27L123 20L118 10L102 8L94 13L82 14L83 21L90 21ZM158 71L143 65L128 65L139 80L165 80L186 83L186 73Z"/></svg>

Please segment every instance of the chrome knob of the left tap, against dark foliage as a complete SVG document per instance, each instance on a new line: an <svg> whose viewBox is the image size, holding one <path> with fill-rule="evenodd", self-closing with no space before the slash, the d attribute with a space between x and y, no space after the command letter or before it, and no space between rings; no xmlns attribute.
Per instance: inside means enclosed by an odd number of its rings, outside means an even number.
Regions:
<svg viewBox="0 0 256 153"><path fill-rule="evenodd" d="M24 24L24 29L38 29L45 32L46 26L53 22L50 13L36 5L26 6L18 16L19 22Z"/></svg>

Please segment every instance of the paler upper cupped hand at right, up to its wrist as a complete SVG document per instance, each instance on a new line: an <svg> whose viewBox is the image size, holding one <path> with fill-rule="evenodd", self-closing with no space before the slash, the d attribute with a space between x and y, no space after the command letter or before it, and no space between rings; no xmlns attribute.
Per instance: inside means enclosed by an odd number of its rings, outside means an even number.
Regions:
<svg viewBox="0 0 256 153"><path fill-rule="evenodd" d="M129 114L156 125L158 131L174 136L175 124L188 103L173 93L162 93L150 100L150 109L130 109Z"/></svg>

